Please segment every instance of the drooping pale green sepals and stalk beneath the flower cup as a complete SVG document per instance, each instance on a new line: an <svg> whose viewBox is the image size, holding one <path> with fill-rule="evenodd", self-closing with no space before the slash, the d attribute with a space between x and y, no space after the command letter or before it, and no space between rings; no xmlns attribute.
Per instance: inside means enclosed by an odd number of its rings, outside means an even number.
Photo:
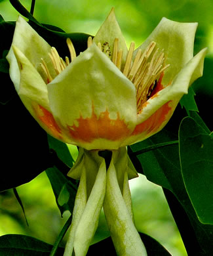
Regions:
<svg viewBox="0 0 213 256"><path fill-rule="evenodd" d="M110 162L108 168L106 161ZM128 179L137 177L137 173L132 169L126 148L113 150L110 159L102 158L98 150L80 148L68 176L80 179L80 184L64 256L73 251L77 256L87 254L102 207L117 254L146 255L134 226Z"/></svg>

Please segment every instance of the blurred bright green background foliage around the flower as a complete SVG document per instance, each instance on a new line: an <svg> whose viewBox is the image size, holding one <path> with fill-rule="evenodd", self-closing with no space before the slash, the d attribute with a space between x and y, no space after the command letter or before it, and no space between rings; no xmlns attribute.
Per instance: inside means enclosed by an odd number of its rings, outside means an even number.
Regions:
<svg viewBox="0 0 213 256"><path fill-rule="evenodd" d="M31 1L22 4L29 10ZM127 45L131 41L140 45L157 26L163 16L178 22L199 22L195 39L195 53L208 47L204 76L193 85L197 93L201 114L212 106L213 97L213 1L212 0L36 0L34 16L39 22L52 24L66 32L85 32L94 35L111 7L115 7L117 20ZM16 20L18 12L8 0L0 1L0 14L6 21ZM3 36L3 35L1 35ZM206 100L208 95L208 100ZM208 117L203 114L204 120ZM32 145L33 146L33 145ZM76 158L76 149L71 148ZM15 168L15 165L14 165ZM18 170L17 170L18 171ZM30 171L30 170L29 170ZM185 256L184 245L172 218L161 188L147 181L145 177L130 182L136 226L163 244L174 256ZM42 173L36 179L17 188L24 204L29 226L12 190L0 194L0 235L27 234L53 244L69 217L60 217L54 194L47 175ZM103 215L94 241L107 236ZM64 243L66 238L64 239Z"/></svg>

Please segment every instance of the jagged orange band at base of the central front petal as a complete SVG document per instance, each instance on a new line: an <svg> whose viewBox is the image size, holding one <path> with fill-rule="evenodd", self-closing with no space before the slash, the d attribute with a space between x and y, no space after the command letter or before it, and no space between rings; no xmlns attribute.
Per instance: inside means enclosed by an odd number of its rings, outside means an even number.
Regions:
<svg viewBox="0 0 213 256"><path fill-rule="evenodd" d="M107 110L97 117L92 109L91 117L83 118L81 116L76 121L78 126L68 125L69 135L74 140L81 142L92 142L95 139L122 140L131 133L125 121L120 119L119 113L117 119L110 119Z"/></svg>

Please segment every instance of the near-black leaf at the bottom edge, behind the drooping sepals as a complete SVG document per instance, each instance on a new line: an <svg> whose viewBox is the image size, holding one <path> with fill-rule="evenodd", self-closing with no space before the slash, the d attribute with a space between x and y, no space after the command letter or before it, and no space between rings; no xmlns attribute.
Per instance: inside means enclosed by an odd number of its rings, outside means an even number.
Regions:
<svg viewBox="0 0 213 256"><path fill-rule="evenodd" d="M142 241L144 242L145 249L147 250L147 255L151 256L169 256L170 253L163 247L163 245L159 244L154 238L148 236L147 234L139 233ZM116 256L115 247L111 240L111 237L106 238L96 244L90 245L88 249L87 256L92 255L111 255Z"/></svg>

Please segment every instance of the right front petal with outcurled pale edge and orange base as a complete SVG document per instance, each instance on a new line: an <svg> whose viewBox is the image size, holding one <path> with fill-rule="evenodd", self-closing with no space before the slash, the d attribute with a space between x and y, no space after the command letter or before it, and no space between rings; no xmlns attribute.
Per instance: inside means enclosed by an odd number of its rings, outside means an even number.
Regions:
<svg viewBox="0 0 213 256"><path fill-rule="evenodd" d="M176 75L171 85L147 100L142 112L138 114L138 125L125 144L147 139L165 127L178 102L187 94L191 83L203 75L205 54L206 49L200 51Z"/></svg>

